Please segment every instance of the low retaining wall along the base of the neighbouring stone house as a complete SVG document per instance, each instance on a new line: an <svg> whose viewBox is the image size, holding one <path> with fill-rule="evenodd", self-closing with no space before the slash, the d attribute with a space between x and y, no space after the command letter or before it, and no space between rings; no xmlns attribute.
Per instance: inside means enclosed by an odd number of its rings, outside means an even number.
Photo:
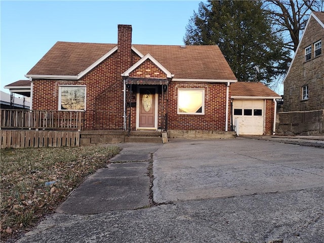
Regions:
<svg viewBox="0 0 324 243"><path fill-rule="evenodd" d="M278 112L277 135L324 134L324 110Z"/></svg>

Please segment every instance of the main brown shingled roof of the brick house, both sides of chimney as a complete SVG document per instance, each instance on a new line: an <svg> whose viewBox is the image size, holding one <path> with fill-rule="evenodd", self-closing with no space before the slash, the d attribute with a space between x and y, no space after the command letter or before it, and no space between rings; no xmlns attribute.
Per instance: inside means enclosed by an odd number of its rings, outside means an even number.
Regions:
<svg viewBox="0 0 324 243"><path fill-rule="evenodd" d="M57 42L26 76L77 75L116 47L116 44ZM174 78L236 80L218 46L133 45L150 54Z"/></svg>

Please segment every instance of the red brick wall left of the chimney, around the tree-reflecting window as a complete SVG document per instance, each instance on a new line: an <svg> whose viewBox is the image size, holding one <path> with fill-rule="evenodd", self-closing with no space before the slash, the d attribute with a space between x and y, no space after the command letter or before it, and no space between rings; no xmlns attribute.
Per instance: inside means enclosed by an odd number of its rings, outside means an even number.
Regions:
<svg viewBox="0 0 324 243"><path fill-rule="evenodd" d="M33 80L32 108L57 110L59 85L85 85L87 129L94 126L95 108L100 111L115 112L117 117L123 116L123 80L117 73L116 63L117 53L114 53L79 80Z"/></svg>

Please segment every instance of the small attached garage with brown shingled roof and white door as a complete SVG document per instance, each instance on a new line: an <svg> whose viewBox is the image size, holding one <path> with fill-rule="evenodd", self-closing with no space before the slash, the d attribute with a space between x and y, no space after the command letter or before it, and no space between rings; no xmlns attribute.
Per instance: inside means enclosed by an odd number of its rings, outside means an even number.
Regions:
<svg viewBox="0 0 324 243"><path fill-rule="evenodd" d="M276 99L281 97L262 83L232 84L232 124L237 135L273 134Z"/></svg>

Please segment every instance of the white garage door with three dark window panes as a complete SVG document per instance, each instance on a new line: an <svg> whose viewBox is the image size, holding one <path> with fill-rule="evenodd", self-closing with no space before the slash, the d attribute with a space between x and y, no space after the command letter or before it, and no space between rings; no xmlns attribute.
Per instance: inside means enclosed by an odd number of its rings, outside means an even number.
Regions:
<svg viewBox="0 0 324 243"><path fill-rule="evenodd" d="M238 134L262 135L264 127L263 100L233 100L233 120L237 118Z"/></svg>

